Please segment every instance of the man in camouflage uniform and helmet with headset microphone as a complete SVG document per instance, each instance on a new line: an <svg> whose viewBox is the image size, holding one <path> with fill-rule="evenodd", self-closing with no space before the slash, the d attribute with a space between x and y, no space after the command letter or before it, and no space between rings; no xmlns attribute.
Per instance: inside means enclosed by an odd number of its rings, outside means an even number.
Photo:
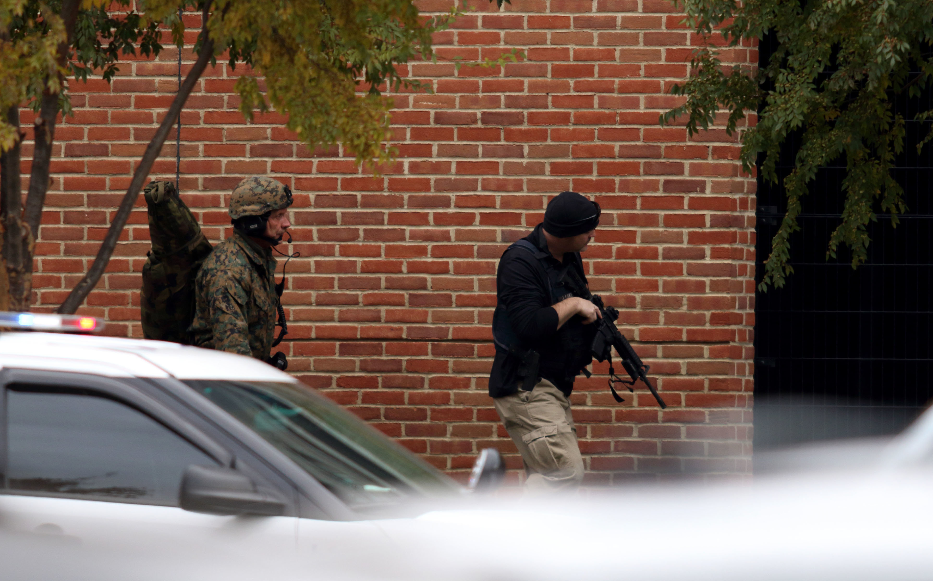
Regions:
<svg viewBox="0 0 933 581"><path fill-rule="evenodd" d="M192 344L272 363L278 309L272 246L291 227L291 190L268 177L247 177L230 197L233 235L204 260L195 284Z"/></svg>

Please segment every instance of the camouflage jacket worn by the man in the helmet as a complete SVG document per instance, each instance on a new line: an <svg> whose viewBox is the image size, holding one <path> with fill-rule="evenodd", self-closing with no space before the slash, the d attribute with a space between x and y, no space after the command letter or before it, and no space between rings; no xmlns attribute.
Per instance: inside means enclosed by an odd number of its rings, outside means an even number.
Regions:
<svg viewBox="0 0 933 581"><path fill-rule="evenodd" d="M274 274L272 251L239 231L217 244L198 271L191 344L268 359L278 301Z"/></svg>

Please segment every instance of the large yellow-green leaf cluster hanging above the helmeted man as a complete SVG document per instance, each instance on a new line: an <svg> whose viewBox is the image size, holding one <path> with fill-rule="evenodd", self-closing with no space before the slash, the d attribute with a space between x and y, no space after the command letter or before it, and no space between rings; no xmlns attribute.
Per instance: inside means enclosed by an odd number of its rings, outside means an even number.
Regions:
<svg viewBox="0 0 933 581"><path fill-rule="evenodd" d="M174 11L177 0L146 3L152 19ZM411 0L216 0L206 28L216 54L249 67L234 86L245 118L273 109L312 148L342 143L357 163L385 162L392 101L382 90L421 87L398 65L430 59L431 35L457 14L419 18Z"/></svg>

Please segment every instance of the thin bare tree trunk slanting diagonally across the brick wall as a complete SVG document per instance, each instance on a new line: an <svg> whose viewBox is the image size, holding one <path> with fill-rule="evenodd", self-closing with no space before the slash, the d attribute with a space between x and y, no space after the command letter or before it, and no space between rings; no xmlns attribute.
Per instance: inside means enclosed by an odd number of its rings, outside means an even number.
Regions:
<svg viewBox="0 0 933 581"><path fill-rule="evenodd" d="M146 147L146 153L143 154L143 159L140 160L139 167L136 168L136 172L132 175L132 182L130 182L130 187L126 191L126 196L124 196L123 201L120 202L117 214L114 215L114 220L107 230L106 237L104 237L104 242L101 244L100 250L97 251L97 256L94 257L94 263L91 265L91 269L84 275L81 282L75 286L71 294L64 299L62 306L58 308L58 312L72 314L77 311L77 308L84 302L84 299L88 297L98 281L100 281L101 275L104 274L104 269L106 269L107 262L109 262L110 256L113 255L114 248L117 247L117 240L120 232L123 230L123 227L126 226L127 218L130 217L132 206L135 204L136 198L139 197L139 190L142 189L143 182L146 181L149 170L152 169L153 162L159 157L162 145L164 145L165 138L168 137L169 131L172 130L175 118L178 117L182 106L188 100L188 94L190 94L191 90L194 88L194 84L198 82L198 79L207 67L207 62L214 56L214 41L207 33L207 15L210 4L210 2L206 3L203 9L203 42L201 45L201 52L198 54L198 61L194 63L194 67L188 72L188 76L185 77L185 82L178 88L172 106L169 107L168 112L165 114L165 118L162 119L159 130L156 131L152 140L149 141L149 145Z"/></svg>

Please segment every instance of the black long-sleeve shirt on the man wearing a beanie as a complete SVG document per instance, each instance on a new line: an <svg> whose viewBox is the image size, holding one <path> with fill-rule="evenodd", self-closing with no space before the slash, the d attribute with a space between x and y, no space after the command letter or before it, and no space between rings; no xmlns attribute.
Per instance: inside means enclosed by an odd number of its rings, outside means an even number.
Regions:
<svg viewBox="0 0 933 581"><path fill-rule="evenodd" d="M586 282L582 260L579 253L564 255L564 262L550 256L548 243L544 238L543 228L538 225L525 237L547 256L538 258L522 248L507 250L499 260L496 272L496 298L498 304L505 307L512 331L530 349L539 353L542 363L540 376L550 380L564 394L573 390L573 380L567 380L564 369L553 369L549 364L564 358L564 346L559 339L557 328L560 318L551 305L569 297L569 291L554 286L549 279L546 264L554 270L565 266L577 270L580 280ZM552 296L558 294L558 296ZM564 326L565 331L573 332L581 325L571 321ZM563 327L562 327L563 329ZM489 394L493 397L514 394L518 390L519 361L514 355L508 355L502 349L496 349L493 369L489 378ZM573 370L575 373L577 369Z"/></svg>

